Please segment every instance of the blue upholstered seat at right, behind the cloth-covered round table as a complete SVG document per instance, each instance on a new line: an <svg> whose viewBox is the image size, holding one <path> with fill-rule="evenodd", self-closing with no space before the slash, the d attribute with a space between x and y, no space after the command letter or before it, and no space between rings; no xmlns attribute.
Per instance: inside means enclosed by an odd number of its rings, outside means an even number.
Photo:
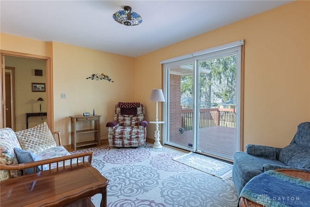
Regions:
<svg viewBox="0 0 310 207"><path fill-rule="evenodd" d="M310 122L299 124L294 139L284 148L248 144L246 152L234 153L233 160L233 182L238 195L251 178L268 170L310 172Z"/></svg>

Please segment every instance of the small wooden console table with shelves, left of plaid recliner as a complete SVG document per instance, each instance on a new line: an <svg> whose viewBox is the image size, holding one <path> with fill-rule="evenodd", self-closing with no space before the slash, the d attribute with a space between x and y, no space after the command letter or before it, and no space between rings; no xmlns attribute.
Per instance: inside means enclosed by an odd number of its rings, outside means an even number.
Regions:
<svg viewBox="0 0 310 207"><path fill-rule="evenodd" d="M90 116L70 116L71 117L71 148L77 151L79 146L87 146L97 144L100 146L100 116L101 115L90 115ZM89 129L77 130L77 122L93 121L94 127ZM93 140L87 142L77 142L77 134L82 133L93 133Z"/></svg>

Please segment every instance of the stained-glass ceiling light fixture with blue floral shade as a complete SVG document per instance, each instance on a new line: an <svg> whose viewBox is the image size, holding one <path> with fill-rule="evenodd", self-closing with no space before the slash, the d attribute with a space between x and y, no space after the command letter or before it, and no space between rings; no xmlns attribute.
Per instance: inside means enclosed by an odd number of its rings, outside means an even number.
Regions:
<svg viewBox="0 0 310 207"><path fill-rule="evenodd" d="M132 12L130 6L124 6L124 10L115 12L113 19L126 26L136 26L142 23L142 17L136 12Z"/></svg>

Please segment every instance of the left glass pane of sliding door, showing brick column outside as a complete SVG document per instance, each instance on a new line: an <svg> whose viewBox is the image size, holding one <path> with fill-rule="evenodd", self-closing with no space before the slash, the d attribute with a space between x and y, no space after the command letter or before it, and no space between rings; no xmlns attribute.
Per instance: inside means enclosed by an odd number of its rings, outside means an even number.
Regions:
<svg viewBox="0 0 310 207"><path fill-rule="evenodd" d="M167 143L183 149L194 144L194 68L193 64L181 64L168 68Z"/></svg>

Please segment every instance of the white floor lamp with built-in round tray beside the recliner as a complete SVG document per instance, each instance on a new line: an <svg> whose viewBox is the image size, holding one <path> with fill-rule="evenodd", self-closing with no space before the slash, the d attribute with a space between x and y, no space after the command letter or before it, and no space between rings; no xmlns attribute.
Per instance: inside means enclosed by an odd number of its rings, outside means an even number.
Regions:
<svg viewBox="0 0 310 207"><path fill-rule="evenodd" d="M150 121L150 123L155 124L156 130L155 130L155 143L153 145L154 148L161 148L163 147L160 143L160 135L158 130L158 125L163 124L165 122L158 121L158 101L159 102L165 102L165 97L163 94L163 91L161 89L153 89L149 101L156 101L156 119L155 121Z"/></svg>

